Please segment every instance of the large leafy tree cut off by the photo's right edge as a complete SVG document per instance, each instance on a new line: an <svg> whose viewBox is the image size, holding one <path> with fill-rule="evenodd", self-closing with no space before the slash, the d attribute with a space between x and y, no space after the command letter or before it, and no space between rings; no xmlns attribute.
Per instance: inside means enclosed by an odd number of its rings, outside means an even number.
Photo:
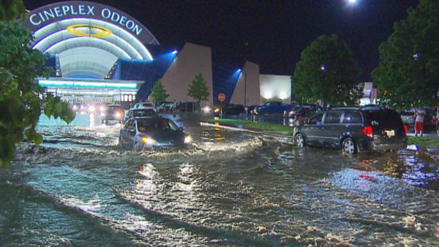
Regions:
<svg viewBox="0 0 439 247"><path fill-rule="evenodd" d="M421 0L393 26L372 72L384 104L398 108L439 102L439 1Z"/></svg>

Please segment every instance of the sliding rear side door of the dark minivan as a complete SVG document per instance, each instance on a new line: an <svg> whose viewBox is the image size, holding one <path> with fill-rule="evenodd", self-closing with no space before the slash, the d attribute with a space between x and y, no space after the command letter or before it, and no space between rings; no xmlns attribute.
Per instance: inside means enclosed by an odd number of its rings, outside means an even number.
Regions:
<svg viewBox="0 0 439 247"><path fill-rule="evenodd" d="M325 147L338 147L342 131L340 128L340 120L342 119L343 111L327 111L324 123L321 127L321 143Z"/></svg>

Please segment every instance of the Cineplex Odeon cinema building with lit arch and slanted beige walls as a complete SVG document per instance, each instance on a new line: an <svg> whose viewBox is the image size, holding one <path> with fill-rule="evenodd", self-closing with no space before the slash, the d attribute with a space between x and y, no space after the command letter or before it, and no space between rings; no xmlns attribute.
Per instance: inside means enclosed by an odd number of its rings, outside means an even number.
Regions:
<svg viewBox="0 0 439 247"><path fill-rule="evenodd" d="M29 12L22 25L32 31L32 48L50 54L48 79L37 82L64 100L134 102L147 100L161 80L168 100L194 101L189 84L201 73L209 87L203 104L290 102L290 76L259 75L259 65L212 62L211 48L186 43L162 46L139 21L101 3L64 1Z"/></svg>

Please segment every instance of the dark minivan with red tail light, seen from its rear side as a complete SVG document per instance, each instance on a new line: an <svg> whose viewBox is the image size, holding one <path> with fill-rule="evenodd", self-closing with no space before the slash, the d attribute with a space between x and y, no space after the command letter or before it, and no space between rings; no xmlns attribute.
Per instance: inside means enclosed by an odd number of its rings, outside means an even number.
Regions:
<svg viewBox="0 0 439 247"><path fill-rule="evenodd" d="M407 147L408 129L400 115L380 107L342 107L321 111L293 136L297 147L333 147L346 154L359 150L397 150Z"/></svg>

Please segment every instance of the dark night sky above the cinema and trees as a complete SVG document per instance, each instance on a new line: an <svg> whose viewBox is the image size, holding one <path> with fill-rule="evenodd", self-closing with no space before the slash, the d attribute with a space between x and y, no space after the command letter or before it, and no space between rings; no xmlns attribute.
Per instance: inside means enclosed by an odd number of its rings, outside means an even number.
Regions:
<svg viewBox="0 0 439 247"><path fill-rule="evenodd" d="M59 1L24 0L33 10ZM378 46L419 0L93 1L140 21L160 44L209 46L218 62L259 64L261 74L292 75L301 51L320 35L337 34L351 47L363 74L379 64Z"/></svg>

